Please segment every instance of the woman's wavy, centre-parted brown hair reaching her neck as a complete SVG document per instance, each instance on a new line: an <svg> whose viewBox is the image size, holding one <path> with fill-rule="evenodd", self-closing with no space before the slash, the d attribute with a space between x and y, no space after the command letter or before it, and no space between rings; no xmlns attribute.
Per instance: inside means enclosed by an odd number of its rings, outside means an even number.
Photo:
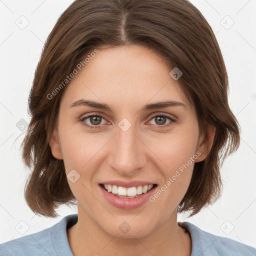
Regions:
<svg viewBox="0 0 256 256"><path fill-rule="evenodd" d="M53 157L49 139L65 88L49 95L85 54L103 46L139 44L182 71L181 88L196 108L200 131L216 127L205 160L194 164L191 182L178 212L214 202L222 188L219 167L239 145L239 126L228 101L228 79L214 33L188 0L75 0L50 32L29 95L31 120L21 144L32 168L24 196L35 213L55 217L60 204L75 204L63 160Z"/></svg>

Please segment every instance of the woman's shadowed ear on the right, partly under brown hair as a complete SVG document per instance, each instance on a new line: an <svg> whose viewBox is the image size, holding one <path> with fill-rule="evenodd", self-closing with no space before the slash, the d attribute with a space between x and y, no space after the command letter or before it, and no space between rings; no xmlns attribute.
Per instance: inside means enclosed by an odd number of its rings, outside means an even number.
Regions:
<svg viewBox="0 0 256 256"><path fill-rule="evenodd" d="M215 132L216 127L214 127L211 124L208 124L205 134L203 134L203 136L200 136L199 138L197 151L199 151L200 154L198 154L198 157L196 158L195 162L203 161L209 154L213 144Z"/></svg>

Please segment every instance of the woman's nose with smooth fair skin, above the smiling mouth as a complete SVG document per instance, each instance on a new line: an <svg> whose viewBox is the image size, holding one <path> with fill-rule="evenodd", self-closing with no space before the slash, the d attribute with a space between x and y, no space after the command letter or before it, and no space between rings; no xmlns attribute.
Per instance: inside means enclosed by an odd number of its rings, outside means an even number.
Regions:
<svg viewBox="0 0 256 256"><path fill-rule="evenodd" d="M146 164L144 141L135 125L126 131L117 126L116 132L109 145L108 164L122 175L134 175Z"/></svg>

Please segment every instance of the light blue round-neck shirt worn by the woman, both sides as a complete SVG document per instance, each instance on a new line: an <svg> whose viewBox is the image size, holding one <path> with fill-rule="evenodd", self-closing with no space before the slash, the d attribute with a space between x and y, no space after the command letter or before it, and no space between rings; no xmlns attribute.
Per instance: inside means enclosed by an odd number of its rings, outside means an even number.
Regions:
<svg viewBox="0 0 256 256"><path fill-rule="evenodd" d="M49 228L1 243L0 255L73 256L68 244L66 228L76 222L77 214L67 215ZM178 222L178 224L190 233L191 256L256 256L256 248L208 233L189 222Z"/></svg>

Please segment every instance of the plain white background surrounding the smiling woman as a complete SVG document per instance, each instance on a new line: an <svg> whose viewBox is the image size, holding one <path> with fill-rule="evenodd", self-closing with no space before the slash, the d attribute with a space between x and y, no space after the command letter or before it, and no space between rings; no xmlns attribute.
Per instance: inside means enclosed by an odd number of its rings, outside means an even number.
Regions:
<svg viewBox="0 0 256 256"><path fill-rule="evenodd" d="M16 127L21 118L30 120L27 99L43 43L71 2L0 1L0 243L40 231L63 216L76 213L76 207L61 206L57 211L60 217L39 217L26 205L23 190L29 170L25 169L19 151L24 132ZM229 104L241 126L241 143L221 168L221 198L195 216L186 218L182 214L178 220L256 247L256 1L191 2L216 34L229 76ZM29 21L24 29L15 24L21 15ZM229 29L223 27L232 22L226 15L234 21ZM21 220L28 225L24 234L15 228Z"/></svg>

